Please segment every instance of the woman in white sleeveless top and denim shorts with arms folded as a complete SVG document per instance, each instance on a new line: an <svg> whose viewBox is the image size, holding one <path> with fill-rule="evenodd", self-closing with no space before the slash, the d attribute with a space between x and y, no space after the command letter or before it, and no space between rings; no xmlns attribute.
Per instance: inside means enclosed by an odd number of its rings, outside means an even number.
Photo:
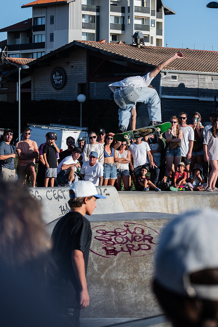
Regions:
<svg viewBox="0 0 218 327"><path fill-rule="evenodd" d="M130 163L130 151L126 141L122 142L118 149L116 150L117 158L114 159L115 162L120 163L119 168L117 168L117 190L121 190L121 180L123 180L124 191L129 191L130 184L130 173L129 173L129 163Z"/></svg>

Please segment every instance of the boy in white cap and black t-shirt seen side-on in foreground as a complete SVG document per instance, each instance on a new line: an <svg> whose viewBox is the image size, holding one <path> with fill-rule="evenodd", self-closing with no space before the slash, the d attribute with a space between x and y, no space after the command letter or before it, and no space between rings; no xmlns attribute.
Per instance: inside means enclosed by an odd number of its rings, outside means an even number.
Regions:
<svg viewBox="0 0 218 327"><path fill-rule="evenodd" d="M58 292L56 296L63 301L63 315L77 327L80 325L80 309L89 305L85 276L92 231L84 215L92 215L98 198L105 199L92 182L73 184L68 201L71 211L61 217L51 235L51 254L57 267L52 273L51 284Z"/></svg>

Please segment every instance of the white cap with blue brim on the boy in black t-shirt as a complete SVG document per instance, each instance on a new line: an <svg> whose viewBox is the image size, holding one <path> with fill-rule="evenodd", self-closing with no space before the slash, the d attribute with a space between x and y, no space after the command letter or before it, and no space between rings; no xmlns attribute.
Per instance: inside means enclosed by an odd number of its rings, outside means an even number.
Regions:
<svg viewBox="0 0 218 327"><path fill-rule="evenodd" d="M84 198L84 197L95 197L106 199L103 195L98 194L96 186L90 181L78 181L74 183L70 190L74 192L74 194L70 194L70 198Z"/></svg>

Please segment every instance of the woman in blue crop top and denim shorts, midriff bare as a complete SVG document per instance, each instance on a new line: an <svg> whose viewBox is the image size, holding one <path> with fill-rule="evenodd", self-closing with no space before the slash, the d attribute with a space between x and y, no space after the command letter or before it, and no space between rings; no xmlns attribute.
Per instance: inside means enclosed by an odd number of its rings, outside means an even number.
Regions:
<svg viewBox="0 0 218 327"><path fill-rule="evenodd" d="M103 171L103 184L102 185L112 185L117 179L117 167L114 163L114 159L117 158L117 153L112 147L114 140L114 134L108 133L104 141L104 171Z"/></svg>

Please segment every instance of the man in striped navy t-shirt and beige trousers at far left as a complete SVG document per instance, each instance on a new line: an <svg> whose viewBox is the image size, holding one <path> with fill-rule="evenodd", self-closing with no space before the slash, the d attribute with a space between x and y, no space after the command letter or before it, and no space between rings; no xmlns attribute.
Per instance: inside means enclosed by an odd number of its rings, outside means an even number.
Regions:
<svg viewBox="0 0 218 327"><path fill-rule="evenodd" d="M3 181L15 181L14 158L15 152L10 141L13 138L11 129L5 129L4 141L0 143L0 177Z"/></svg>

